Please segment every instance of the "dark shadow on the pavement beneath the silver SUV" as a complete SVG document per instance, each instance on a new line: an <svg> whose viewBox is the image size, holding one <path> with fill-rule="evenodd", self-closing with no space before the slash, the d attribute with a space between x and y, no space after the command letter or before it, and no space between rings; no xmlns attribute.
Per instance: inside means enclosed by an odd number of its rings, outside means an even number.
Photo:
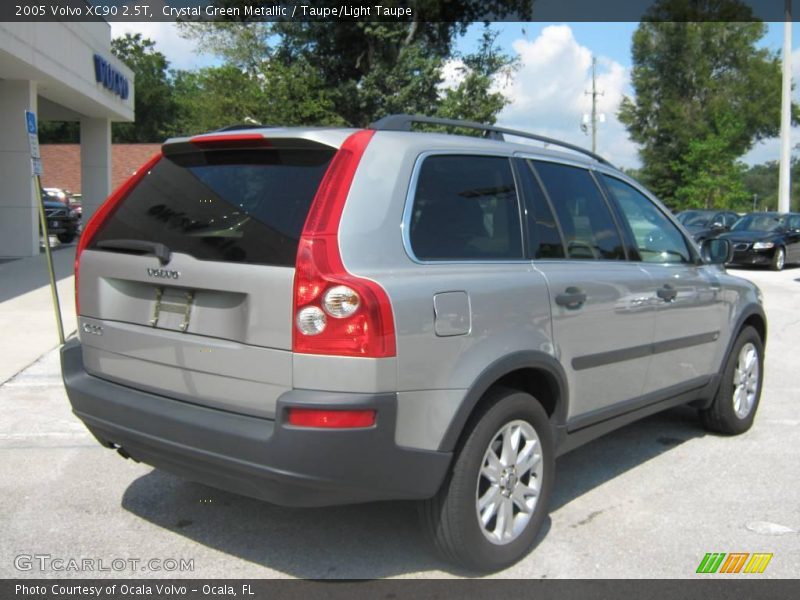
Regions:
<svg viewBox="0 0 800 600"><path fill-rule="evenodd" d="M679 408L587 444L558 459L550 508L556 510L700 435L695 411ZM363 579L427 571L470 575L432 553L412 502L293 509L153 470L128 486L122 507L199 544L294 577ZM548 517L537 545L550 527ZM248 569L246 576L258 577L259 572Z"/></svg>

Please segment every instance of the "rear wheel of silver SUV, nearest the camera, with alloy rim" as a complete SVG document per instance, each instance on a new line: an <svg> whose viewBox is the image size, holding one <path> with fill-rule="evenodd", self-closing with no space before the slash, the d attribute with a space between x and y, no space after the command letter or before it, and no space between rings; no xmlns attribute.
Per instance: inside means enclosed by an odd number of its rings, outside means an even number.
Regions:
<svg viewBox="0 0 800 600"><path fill-rule="evenodd" d="M551 425L539 402L516 390L489 394L451 473L420 506L423 529L442 558L478 572L503 569L529 552L555 470Z"/></svg>

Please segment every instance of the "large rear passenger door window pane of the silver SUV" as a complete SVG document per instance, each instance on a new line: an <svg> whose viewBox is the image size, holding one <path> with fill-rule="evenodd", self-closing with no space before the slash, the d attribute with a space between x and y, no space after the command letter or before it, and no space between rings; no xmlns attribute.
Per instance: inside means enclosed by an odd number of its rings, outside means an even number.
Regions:
<svg viewBox="0 0 800 600"><path fill-rule="evenodd" d="M567 256L624 260L619 231L589 172L556 163L534 164L555 208Z"/></svg>

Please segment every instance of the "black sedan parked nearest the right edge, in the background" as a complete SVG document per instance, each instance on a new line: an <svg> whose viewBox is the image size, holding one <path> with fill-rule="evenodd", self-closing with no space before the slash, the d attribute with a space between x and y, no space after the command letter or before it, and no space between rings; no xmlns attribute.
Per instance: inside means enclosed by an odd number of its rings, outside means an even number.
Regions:
<svg viewBox="0 0 800 600"><path fill-rule="evenodd" d="M794 213L752 213L718 236L733 247L732 265L762 265L780 271L800 263L800 222Z"/></svg>

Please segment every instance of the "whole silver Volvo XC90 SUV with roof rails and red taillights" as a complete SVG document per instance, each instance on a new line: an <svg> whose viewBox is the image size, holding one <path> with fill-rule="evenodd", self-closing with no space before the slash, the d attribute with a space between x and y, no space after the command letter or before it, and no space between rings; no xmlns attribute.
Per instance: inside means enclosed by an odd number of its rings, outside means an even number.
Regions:
<svg viewBox="0 0 800 600"><path fill-rule="evenodd" d="M418 500L444 557L497 570L557 455L679 404L751 426L766 319L729 258L533 134L172 139L81 237L64 381L123 456L284 505Z"/></svg>

